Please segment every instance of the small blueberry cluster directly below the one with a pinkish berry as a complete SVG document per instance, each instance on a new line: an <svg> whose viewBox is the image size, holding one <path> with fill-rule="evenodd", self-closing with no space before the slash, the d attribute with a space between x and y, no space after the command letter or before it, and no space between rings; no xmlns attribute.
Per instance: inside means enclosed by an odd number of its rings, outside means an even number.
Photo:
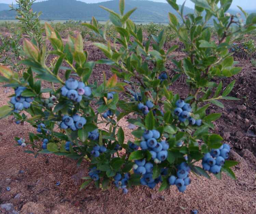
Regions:
<svg viewBox="0 0 256 214"><path fill-rule="evenodd" d="M82 129L85 124L86 119L84 117L81 117L79 114L75 114L72 117L64 115L62 117L62 122L60 123L60 128L70 128L72 131L76 131L78 129Z"/></svg>

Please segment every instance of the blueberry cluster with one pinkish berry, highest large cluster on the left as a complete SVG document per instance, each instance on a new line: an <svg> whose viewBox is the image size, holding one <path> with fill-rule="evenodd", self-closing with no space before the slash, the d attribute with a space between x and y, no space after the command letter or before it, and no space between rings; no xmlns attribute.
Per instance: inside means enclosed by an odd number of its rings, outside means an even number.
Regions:
<svg viewBox="0 0 256 214"><path fill-rule="evenodd" d="M65 86L60 89L60 93L70 100L81 102L82 96L91 96L92 90L90 87L85 86L83 82L70 78L65 82Z"/></svg>

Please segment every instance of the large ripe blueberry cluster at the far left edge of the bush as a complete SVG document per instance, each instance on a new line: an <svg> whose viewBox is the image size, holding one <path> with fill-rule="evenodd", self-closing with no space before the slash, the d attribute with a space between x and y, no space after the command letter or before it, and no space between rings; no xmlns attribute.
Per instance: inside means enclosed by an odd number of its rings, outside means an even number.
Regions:
<svg viewBox="0 0 256 214"><path fill-rule="evenodd" d="M33 102L33 97L23 97L21 96L22 92L26 87L19 86L15 88L15 96L11 98L11 103L14 105L14 112L18 113L19 111L22 111L24 108L28 109L31 105L31 102Z"/></svg>

